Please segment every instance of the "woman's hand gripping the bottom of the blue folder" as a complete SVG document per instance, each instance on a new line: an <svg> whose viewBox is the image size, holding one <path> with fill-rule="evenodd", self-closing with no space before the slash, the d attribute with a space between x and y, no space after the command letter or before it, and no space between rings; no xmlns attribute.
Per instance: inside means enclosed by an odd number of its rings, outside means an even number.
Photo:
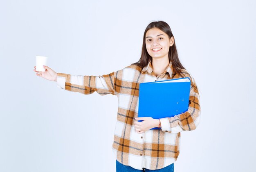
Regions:
<svg viewBox="0 0 256 172"><path fill-rule="evenodd" d="M137 133L144 133L145 131L150 130L159 126L159 120L153 119L151 117L137 117L135 118L134 126ZM138 120L143 120L139 122Z"/></svg>

